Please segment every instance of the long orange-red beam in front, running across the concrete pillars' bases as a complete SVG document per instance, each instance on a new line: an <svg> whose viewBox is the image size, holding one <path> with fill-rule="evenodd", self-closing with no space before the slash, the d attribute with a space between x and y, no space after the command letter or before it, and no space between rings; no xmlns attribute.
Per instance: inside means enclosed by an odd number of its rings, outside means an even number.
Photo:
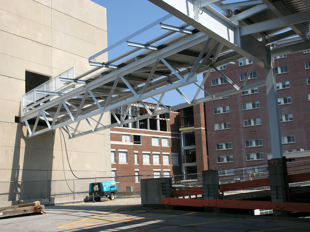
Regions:
<svg viewBox="0 0 310 232"><path fill-rule="evenodd" d="M203 200L183 198L162 198L162 204L182 205L194 207L240 208L240 209L273 209L290 212L310 212L310 203L278 203L269 201L245 201L245 200Z"/></svg>

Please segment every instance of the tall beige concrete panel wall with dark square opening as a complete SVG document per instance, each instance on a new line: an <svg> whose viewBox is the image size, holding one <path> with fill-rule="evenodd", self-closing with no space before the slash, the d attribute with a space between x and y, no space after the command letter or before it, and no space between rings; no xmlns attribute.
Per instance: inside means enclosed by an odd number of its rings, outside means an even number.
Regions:
<svg viewBox="0 0 310 232"><path fill-rule="evenodd" d="M67 153L78 177L110 176L109 130L70 140L59 129L27 138L26 127L15 123L22 116L25 71L53 77L73 66L76 75L92 68L88 57L107 47L106 9L90 0L0 0L0 37L0 182L24 181L3 184L0 193L16 199L17 192L48 188L27 181L74 178ZM107 54L100 56L106 60ZM108 120L105 114L102 122ZM50 191L70 191L66 182L55 183Z"/></svg>

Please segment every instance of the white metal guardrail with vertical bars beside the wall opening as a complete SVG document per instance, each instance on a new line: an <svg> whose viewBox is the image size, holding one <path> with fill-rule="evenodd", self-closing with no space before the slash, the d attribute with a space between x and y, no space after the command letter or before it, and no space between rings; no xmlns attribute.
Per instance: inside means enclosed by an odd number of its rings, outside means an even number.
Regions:
<svg viewBox="0 0 310 232"><path fill-rule="evenodd" d="M40 91L47 91L47 92L55 92L59 90L60 88L64 87L66 84L65 81L60 81L60 77L74 79L74 66L67 71L64 71L63 73L60 73L59 75L53 77L52 79L48 80L47 82L39 85L38 87L30 90L29 92L25 93L22 96L22 102L23 107L32 104L33 102L36 102L40 100L41 98L47 96L47 94L40 94L36 93L36 90Z"/></svg>

